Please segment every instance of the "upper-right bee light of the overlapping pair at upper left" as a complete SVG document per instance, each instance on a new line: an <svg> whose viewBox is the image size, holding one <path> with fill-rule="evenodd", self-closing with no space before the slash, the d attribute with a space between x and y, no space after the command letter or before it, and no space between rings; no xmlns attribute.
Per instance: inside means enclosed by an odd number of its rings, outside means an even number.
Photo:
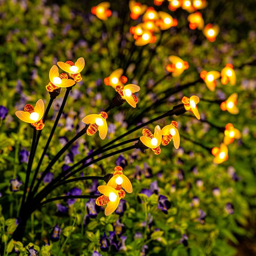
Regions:
<svg viewBox="0 0 256 256"><path fill-rule="evenodd" d="M76 82L80 82L82 80L80 72L84 68L84 58L79 58L75 63L71 60L67 60L66 63L62 61L58 61L57 65L69 73L69 76L72 77Z"/></svg>

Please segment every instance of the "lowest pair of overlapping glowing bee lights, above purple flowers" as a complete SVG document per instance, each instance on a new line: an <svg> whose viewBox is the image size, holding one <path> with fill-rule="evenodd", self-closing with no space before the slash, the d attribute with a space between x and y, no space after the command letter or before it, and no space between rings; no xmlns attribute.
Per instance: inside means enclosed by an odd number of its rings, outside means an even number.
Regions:
<svg viewBox="0 0 256 256"><path fill-rule="evenodd" d="M108 184L98 186L99 192L103 195L96 199L96 204L99 206L106 205L106 216L112 214L116 210L120 199L125 197L125 191L122 188L124 188L127 193L133 192L132 183L123 175L122 167L116 166L113 177L109 180Z"/></svg>

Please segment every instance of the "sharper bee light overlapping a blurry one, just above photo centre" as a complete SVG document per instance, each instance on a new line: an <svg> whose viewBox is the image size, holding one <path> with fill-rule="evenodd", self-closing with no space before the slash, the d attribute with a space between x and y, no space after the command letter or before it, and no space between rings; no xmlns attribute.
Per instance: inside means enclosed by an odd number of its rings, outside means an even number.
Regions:
<svg viewBox="0 0 256 256"><path fill-rule="evenodd" d="M116 92L127 101L133 108L136 108L136 104L138 103L138 98L134 95L135 92L140 90L139 86L136 84L127 84L127 86L117 86L115 88Z"/></svg>

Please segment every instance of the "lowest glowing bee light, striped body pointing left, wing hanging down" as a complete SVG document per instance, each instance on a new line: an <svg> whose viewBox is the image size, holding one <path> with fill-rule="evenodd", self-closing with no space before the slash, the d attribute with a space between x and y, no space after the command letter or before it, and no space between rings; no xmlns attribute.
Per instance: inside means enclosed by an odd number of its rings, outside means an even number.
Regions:
<svg viewBox="0 0 256 256"><path fill-rule="evenodd" d="M96 204L99 206L106 205L105 215L108 216L116 210L120 197L123 197L115 188L108 185L98 186L98 190L103 195L96 199Z"/></svg>

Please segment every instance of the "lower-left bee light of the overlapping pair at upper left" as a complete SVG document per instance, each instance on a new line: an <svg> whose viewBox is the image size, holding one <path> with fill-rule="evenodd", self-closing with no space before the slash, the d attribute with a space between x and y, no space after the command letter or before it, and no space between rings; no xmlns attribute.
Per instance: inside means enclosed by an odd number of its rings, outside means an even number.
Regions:
<svg viewBox="0 0 256 256"><path fill-rule="evenodd" d="M48 92L53 92L58 88L66 88L73 86L76 82L73 79L68 79L69 76L65 73L59 74L58 67L52 66L49 72L50 82L46 86Z"/></svg>

